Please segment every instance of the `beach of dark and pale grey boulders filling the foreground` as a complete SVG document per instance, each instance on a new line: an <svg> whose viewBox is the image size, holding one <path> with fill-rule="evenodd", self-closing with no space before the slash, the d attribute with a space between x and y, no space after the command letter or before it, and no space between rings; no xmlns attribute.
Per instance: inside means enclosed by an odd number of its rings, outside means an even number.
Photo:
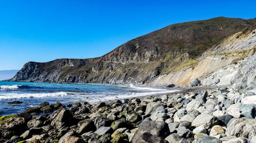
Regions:
<svg viewBox="0 0 256 143"><path fill-rule="evenodd" d="M191 90L67 106L43 102L0 118L0 142L256 142L256 94Z"/></svg>

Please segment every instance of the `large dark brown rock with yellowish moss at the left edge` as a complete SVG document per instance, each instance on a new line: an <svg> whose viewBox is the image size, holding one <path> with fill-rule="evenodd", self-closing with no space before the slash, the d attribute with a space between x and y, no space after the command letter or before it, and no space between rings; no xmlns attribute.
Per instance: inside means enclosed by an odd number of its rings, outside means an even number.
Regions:
<svg viewBox="0 0 256 143"><path fill-rule="evenodd" d="M11 138L13 135L22 134L26 130L25 118L18 115L0 117L0 136Z"/></svg>

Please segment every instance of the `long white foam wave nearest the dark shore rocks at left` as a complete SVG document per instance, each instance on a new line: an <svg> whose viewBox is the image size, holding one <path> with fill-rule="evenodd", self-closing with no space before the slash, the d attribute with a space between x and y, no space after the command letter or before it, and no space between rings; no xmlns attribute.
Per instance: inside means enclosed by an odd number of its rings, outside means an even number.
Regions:
<svg viewBox="0 0 256 143"><path fill-rule="evenodd" d="M63 97L67 96L66 92L57 92L57 93L8 93L5 95L0 95L0 100L3 99L23 99L23 98L47 98L47 97Z"/></svg>

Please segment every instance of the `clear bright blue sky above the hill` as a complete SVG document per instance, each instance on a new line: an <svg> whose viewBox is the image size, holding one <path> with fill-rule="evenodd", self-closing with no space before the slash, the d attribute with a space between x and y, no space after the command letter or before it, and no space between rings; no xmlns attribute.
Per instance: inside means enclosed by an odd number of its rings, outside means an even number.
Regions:
<svg viewBox="0 0 256 143"><path fill-rule="evenodd" d="M256 1L0 1L0 70L93 58L173 23L255 18Z"/></svg>

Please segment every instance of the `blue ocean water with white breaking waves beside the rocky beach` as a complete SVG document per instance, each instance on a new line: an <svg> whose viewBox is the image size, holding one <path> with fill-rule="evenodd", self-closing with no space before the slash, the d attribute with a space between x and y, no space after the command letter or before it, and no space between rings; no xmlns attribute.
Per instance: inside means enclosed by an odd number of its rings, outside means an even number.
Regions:
<svg viewBox="0 0 256 143"><path fill-rule="evenodd" d="M63 105L74 102L109 102L115 99L172 93L176 90L115 85L60 84L38 82L0 81L0 116L23 112L28 107L37 106L44 101ZM8 104L12 101L21 104Z"/></svg>

